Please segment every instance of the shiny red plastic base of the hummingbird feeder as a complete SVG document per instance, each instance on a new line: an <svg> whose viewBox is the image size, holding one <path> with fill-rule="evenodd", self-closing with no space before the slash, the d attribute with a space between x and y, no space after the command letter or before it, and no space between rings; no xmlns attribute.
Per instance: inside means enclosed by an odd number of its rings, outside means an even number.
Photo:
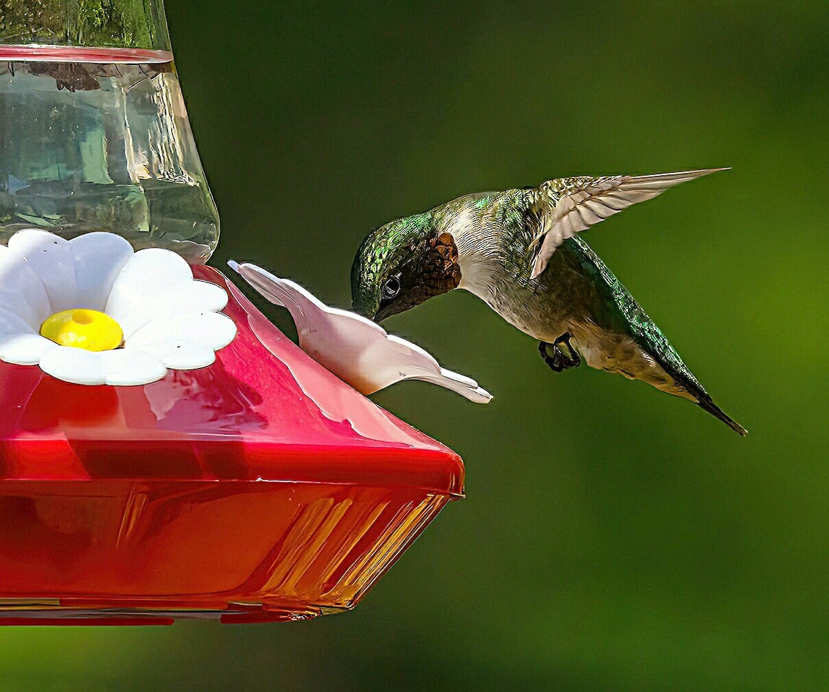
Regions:
<svg viewBox="0 0 829 692"><path fill-rule="evenodd" d="M88 387L0 362L0 624L339 612L461 496L454 452L193 271L239 330L210 367Z"/></svg>

